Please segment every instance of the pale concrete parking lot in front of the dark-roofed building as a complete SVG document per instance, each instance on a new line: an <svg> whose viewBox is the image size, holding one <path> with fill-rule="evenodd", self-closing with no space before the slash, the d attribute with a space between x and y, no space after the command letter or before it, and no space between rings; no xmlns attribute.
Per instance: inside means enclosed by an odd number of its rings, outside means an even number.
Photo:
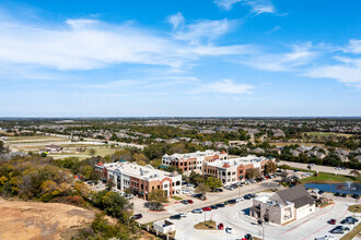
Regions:
<svg viewBox="0 0 361 240"><path fill-rule="evenodd" d="M261 194L265 195L269 193ZM318 209L316 213L286 226L268 224L263 228L257 225L256 219L247 215L247 208L252 205L252 200L245 200L232 206L228 205L224 208L218 208L202 214L188 213L186 218L182 218L180 220L172 220L172 223L176 225L176 239L241 239L246 233L261 238L264 229L265 239L267 240L308 240L331 235L328 231L339 225L339 221L347 216L353 216L352 213L347 211L347 208L349 205L354 204L354 201L350 199L349 201L336 200L335 202L336 203L331 206ZM330 218L335 218L337 220L336 225L327 224ZM232 227L233 232L226 233L224 230L197 230L194 228L195 224L203 221L205 219L212 219L217 221L217 224L222 223L224 227ZM351 230L354 227L353 225L346 226ZM331 236L335 236L338 239L342 235Z"/></svg>

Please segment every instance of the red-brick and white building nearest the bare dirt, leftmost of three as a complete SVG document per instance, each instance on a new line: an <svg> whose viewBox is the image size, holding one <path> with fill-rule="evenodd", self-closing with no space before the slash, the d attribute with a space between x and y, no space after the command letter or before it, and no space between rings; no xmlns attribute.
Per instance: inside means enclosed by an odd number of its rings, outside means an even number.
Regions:
<svg viewBox="0 0 361 240"><path fill-rule="evenodd" d="M154 169L152 166L140 166L136 163L98 163L95 169L102 172L104 181L113 181L115 188L125 191L129 189L133 195L148 200L152 190L162 189L167 196L180 194L182 176Z"/></svg>

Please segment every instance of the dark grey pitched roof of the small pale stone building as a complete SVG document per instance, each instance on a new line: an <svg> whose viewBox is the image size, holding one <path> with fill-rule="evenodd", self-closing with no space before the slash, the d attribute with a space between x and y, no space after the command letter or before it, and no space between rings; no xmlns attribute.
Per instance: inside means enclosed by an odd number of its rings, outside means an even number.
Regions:
<svg viewBox="0 0 361 240"><path fill-rule="evenodd" d="M306 204L313 204L315 202L315 200L310 195L310 193L303 185L295 185L295 187L279 191L275 194L277 194L284 204L287 202L294 203L295 208L299 208Z"/></svg>

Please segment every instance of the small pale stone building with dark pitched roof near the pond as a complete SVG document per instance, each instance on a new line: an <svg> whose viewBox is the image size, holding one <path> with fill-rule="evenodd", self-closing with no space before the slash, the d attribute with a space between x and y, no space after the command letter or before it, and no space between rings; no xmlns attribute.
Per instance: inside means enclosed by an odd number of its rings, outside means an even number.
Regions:
<svg viewBox="0 0 361 240"><path fill-rule="evenodd" d="M253 200L249 215L257 219L284 225L316 211L315 200L302 185Z"/></svg>

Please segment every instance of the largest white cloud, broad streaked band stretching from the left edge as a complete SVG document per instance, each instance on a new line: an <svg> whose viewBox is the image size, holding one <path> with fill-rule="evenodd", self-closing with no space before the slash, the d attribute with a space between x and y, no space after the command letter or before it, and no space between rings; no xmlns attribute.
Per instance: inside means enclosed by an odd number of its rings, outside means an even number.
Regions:
<svg viewBox="0 0 361 240"><path fill-rule="evenodd" d="M226 20L201 21L176 32L176 39L128 23L112 25L80 19L45 27L2 20L0 62L59 70L91 70L120 63L182 69L202 56L242 55L242 46L179 43L197 37L213 39L229 28Z"/></svg>

